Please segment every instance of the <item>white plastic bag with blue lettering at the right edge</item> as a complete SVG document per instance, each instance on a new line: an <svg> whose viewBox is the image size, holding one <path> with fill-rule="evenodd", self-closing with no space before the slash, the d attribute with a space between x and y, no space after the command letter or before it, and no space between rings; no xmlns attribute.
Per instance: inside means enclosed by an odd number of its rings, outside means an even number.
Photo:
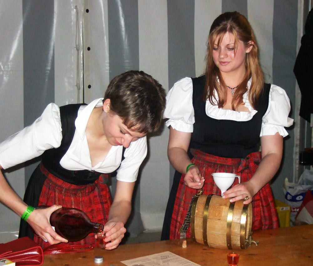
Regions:
<svg viewBox="0 0 313 266"><path fill-rule="evenodd" d="M304 199L305 193L313 190L313 171L305 169L300 176L298 183L288 182L285 179L283 191L285 195L285 203L291 207L290 219L294 218L299 211L300 205Z"/></svg>

